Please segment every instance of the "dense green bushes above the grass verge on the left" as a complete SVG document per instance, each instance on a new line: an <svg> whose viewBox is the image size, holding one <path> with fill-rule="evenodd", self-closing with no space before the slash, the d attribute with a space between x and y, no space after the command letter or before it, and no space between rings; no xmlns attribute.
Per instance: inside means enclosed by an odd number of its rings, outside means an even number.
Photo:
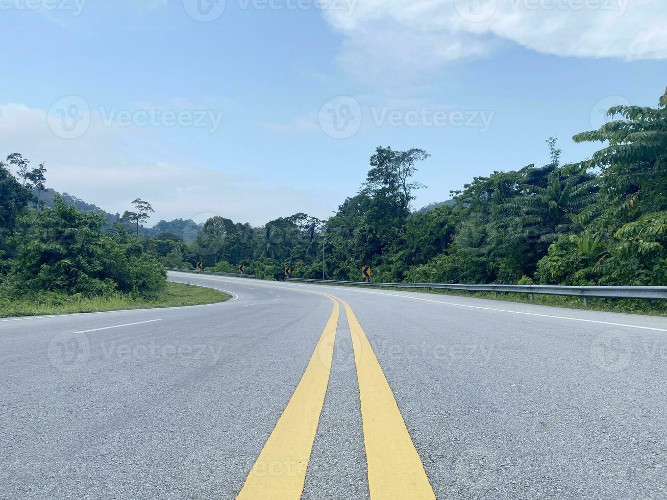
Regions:
<svg viewBox="0 0 667 500"><path fill-rule="evenodd" d="M59 196L53 209L43 207L4 164L0 164L0 190L6 229L0 235L4 275L0 300L49 293L81 297L129 293L151 298L164 290L163 267L141 245L105 233L101 213L80 213ZM35 208L26 210L29 203Z"/></svg>

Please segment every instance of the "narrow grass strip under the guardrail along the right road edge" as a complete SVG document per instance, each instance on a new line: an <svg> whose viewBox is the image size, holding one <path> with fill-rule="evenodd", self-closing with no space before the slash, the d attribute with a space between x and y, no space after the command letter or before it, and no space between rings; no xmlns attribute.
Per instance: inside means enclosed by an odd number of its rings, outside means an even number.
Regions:
<svg viewBox="0 0 667 500"><path fill-rule="evenodd" d="M550 305L552 307L568 307L570 309L585 309L584 300L580 297L568 297L559 295L535 295L535 301L530 302L527 293L498 293L493 292L468 292L463 290L450 290L446 294L443 289L434 288L398 288L398 287L365 287L364 285L340 285L331 283L329 286L356 286L366 289L384 289L396 291L418 291L432 293L434 295L456 295L458 297L475 297L477 299L490 299L497 301L533 303L538 305ZM647 301L638 299L588 299L588 310L606 311L612 313L644 314L650 316L667 316L667 301Z"/></svg>

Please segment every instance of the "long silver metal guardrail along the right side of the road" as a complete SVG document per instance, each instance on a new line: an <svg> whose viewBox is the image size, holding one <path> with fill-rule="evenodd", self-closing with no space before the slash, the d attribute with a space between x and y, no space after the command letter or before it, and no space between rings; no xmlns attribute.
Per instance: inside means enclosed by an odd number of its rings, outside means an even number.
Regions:
<svg viewBox="0 0 667 500"><path fill-rule="evenodd" d="M445 283L365 283L364 281L337 281L331 279L303 279L287 278L287 281L306 281L309 283L329 283L334 285L359 285L364 287L394 287L394 288L425 288L486 291L503 293L528 293L533 300L534 295L568 295L582 297L588 305L590 297L605 299L647 299L667 300L667 287L569 287L560 285L452 285Z"/></svg>

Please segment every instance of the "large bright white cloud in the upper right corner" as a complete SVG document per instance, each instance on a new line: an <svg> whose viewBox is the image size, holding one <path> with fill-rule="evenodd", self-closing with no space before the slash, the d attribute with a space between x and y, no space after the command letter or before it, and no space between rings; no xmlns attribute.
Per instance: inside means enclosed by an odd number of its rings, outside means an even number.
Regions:
<svg viewBox="0 0 667 500"><path fill-rule="evenodd" d="M664 0L365 0L325 9L356 75L406 77L513 42L540 53L667 59Z"/></svg>

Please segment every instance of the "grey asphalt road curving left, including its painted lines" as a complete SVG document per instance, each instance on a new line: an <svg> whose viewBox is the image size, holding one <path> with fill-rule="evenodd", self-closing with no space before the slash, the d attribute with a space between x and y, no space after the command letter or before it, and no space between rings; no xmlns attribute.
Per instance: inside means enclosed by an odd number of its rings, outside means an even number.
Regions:
<svg viewBox="0 0 667 500"><path fill-rule="evenodd" d="M170 279L0 319L0 498L667 499L666 318Z"/></svg>

